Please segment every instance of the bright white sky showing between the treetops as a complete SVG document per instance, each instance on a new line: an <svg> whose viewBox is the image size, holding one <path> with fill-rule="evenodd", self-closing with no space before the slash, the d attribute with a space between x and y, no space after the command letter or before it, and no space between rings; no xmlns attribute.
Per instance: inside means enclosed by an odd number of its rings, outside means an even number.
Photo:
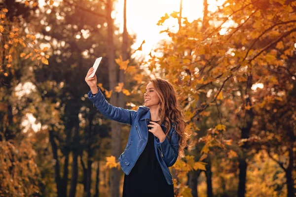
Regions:
<svg viewBox="0 0 296 197"><path fill-rule="evenodd" d="M215 0L209 0L209 3L210 1ZM120 27L120 32L123 30L123 3L124 0L118 0L115 4L117 13L114 23ZM135 54L136 58L137 56L147 56L160 40L168 39L165 33L159 33L161 30L168 27L178 30L178 19L169 19L164 26L156 24L165 13L170 15L173 11L179 11L180 0L127 0L126 7L127 31L137 35L137 40L132 48L137 49L145 40L143 50ZM182 16L187 17L189 22L201 18L203 0L183 0L182 13Z"/></svg>

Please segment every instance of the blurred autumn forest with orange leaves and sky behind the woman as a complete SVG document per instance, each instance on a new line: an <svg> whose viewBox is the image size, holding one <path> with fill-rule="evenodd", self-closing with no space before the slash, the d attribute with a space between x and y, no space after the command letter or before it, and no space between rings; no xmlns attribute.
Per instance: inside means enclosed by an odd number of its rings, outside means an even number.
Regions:
<svg viewBox="0 0 296 197"><path fill-rule="evenodd" d="M0 197L119 197L130 126L102 116L174 84L176 197L296 196L295 0L0 0Z"/></svg>

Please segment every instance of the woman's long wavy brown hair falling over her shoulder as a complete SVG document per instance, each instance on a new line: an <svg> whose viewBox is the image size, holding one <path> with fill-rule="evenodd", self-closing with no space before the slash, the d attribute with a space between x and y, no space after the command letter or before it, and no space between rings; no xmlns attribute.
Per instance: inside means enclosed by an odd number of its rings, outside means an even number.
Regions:
<svg viewBox="0 0 296 197"><path fill-rule="evenodd" d="M185 156L184 149L188 146L187 141L191 134L186 130L184 113L175 87L164 79L151 79L150 82L154 85L156 94L160 99L158 110L160 123L164 123L164 127L166 128L165 134L169 140L170 137L167 134L171 130L171 124L174 123L175 130L180 136L179 156L182 158Z"/></svg>

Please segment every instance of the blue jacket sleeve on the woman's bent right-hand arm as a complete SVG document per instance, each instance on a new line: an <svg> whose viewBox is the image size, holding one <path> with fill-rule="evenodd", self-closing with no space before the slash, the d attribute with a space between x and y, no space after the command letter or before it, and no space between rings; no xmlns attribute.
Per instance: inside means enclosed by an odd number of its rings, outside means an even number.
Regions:
<svg viewBox="0 0 296 197"><path fill-rule="evenodd" d="M168 167L172 166L177 161L179 155L179 140L180 136L174 127L170 141L167 136L165 136L165 139L162 142L156 138L156 147L160 151L160 155Z"/></svg>

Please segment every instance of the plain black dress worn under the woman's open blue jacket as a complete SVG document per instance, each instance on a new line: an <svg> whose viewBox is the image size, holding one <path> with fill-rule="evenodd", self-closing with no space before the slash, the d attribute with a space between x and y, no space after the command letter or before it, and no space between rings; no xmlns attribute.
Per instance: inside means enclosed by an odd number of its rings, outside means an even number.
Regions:
<svg viewBox="0 0 296 197"><path fill-rule="evenodd" d="M174 197L174 185L169 185L164 177L155 155L154 135L150 131L144 151L129 175L124 174L122 197Z"/></svg>

